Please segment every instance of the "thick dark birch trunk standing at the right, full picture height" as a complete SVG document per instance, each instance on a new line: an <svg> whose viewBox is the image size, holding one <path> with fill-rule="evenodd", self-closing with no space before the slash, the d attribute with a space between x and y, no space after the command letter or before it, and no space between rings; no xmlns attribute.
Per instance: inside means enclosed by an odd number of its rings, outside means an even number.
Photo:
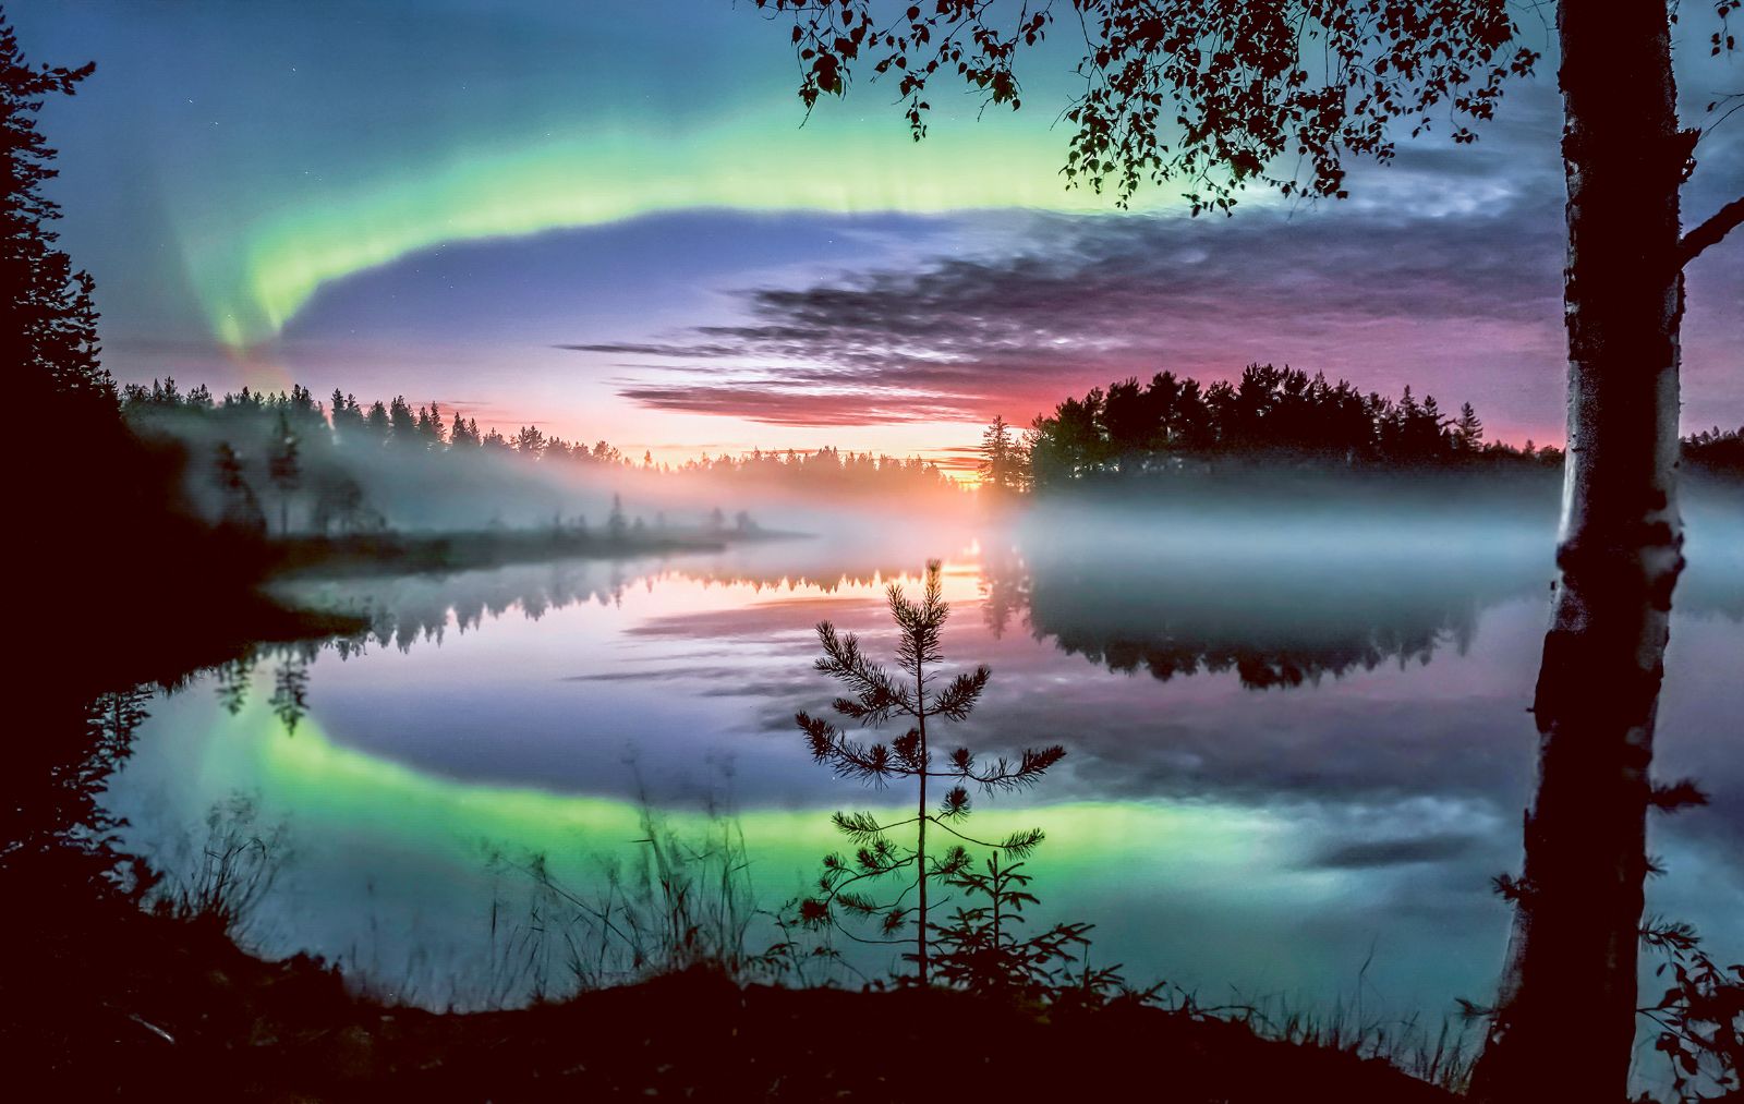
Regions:
<svg viewBox="0 0 1744 1104"><path fill-rule="evenodd" d="M1568 467L1496 1012L1472 1097L1624 1101L1636 1031L1648 766L1683 567L1679 138L1664 0L1563 0Z"/></svg>

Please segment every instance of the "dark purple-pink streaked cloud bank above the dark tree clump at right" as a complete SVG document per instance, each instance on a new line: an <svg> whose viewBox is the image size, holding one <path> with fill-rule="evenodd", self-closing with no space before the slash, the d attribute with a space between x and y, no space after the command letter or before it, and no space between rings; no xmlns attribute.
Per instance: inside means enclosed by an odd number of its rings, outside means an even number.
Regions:
<svg viewBox="0 0 1744 1104"><path fill-rule="evenodd" d="M1414 208L1399 199L1413 187ZM1441 164L1392 188L1294 216L1022 215L1005 248L741 290L739 324L565 347L626 358L640 378L621 394L644 406L790 426L1024 422L1111 378L1221 378L1249 361L1451 401L1543 377L1529 413L1554 422L1559 199Z"/></svg>

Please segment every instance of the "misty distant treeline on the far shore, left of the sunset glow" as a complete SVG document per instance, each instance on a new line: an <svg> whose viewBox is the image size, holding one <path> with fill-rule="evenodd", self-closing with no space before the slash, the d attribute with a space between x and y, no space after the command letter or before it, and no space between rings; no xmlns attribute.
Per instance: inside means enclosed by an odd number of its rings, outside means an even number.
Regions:
<svg viewBox="0 0 1744 1104"><path fill-rule="evenodd" d="M671 487L698 494L788 490L802 495L956 492L937 464L917 457L814 452L745 455L703 453L684 464L640 460L607 441L591 446L521 426L513 436L481 431L476 419L439 403L413 408L405 396L364 406L333 391L326 403L302 385L263 392L242 387L215 398L206 385L183 392L174 378L129 384L120 392L127 422L141 434L183 441L208 457L195 476L215 520L256 534L368 534L391 521L434 528L502 523L506 504L521 521L560 525L572 501L562 476L596 474L617 483L673 476ZM546 478L555 476L555 478ZM713 508L706 525L726 528ZM651 523L663 528L664 518ZM750 527L739 511L732 527Z"/></svg>

